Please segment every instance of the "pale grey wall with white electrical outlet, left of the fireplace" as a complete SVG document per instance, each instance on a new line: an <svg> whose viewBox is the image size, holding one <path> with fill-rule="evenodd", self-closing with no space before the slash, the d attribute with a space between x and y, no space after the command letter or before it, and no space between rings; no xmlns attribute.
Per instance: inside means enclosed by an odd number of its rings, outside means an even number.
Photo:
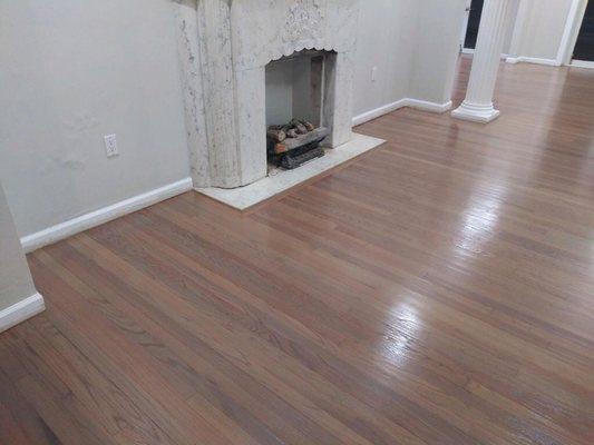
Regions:
<svg viewBox="0 0 594 445"><path fill-rule="evenodd" d="M0 85L21 236L188 176L171 0L0 1Z"/></svg>

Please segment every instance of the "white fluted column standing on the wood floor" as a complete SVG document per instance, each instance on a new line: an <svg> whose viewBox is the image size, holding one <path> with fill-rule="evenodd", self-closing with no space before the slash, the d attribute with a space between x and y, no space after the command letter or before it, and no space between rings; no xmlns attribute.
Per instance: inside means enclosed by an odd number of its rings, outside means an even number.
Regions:
<svg viewBox="0 0 594 445"><path fill-rule="evenodd" d="M490 122L499 116L493 93L502 60L512 0L486 0L478 29L466 99L451 112L458 119Z"/></svg>

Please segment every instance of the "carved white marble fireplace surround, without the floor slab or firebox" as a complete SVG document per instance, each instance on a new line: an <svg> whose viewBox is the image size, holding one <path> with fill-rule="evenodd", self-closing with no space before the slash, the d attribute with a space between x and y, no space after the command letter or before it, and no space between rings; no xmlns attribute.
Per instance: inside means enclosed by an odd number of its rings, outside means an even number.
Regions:
<svg viewBox="0 0 594 445"><path fill-rule="evenodd" d="M266 66L304 50L322 51L324 144L335 148L352 139L358 14L359 0L197 3L207 139L193 157L197 187L235 188L266 177Z"/></svg>

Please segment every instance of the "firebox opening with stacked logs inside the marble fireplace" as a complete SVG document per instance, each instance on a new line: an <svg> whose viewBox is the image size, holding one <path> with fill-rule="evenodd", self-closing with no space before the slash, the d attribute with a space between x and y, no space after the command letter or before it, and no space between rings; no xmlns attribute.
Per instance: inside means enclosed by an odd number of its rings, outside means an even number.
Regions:
<svg viewBox="0 0 594 445"><path fill-rule="evenodd" d="M293 169L324 156L327 51L303 50L266 66L269 172Z"/></svg>

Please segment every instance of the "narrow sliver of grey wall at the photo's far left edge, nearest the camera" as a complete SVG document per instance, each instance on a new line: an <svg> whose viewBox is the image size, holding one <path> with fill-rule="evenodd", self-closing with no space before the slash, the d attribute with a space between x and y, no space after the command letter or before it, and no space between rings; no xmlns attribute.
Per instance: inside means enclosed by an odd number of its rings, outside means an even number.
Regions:
<svg viewBox="0 0 594 445"><path fill-rule="evenodd" d="M0 184L0 310L36 294Z"/></svg>

